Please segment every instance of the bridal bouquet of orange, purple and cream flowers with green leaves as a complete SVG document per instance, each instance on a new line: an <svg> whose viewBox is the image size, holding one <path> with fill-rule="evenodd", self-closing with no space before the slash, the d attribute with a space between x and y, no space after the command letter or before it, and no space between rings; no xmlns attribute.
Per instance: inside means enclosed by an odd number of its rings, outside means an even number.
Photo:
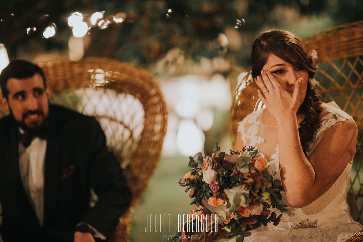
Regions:
<svg viewBox="0 0 363 242"><path fill-rule="evenodd" d="M244 147L242 151L231 151L231 155L227 155L220 152L217 143L211 157L204 156L204 152L189 157L191 171L179 180L180 186L186 186L185 192L189 191L193 199L189 220L196 218L196 224L220 227L227 235L237 235L236 242L249 236L246 229L255 223L266 226L271 221L274 225L280 222L282 214L276 217L270 209L286 211L287 205L281 202L283 187L275 184L265 170L267 160L254 148ZM206 221L211 214L216 221ZM205 231L208 232L207 226ZM187 228L185 231L198 230Z"/></svg>

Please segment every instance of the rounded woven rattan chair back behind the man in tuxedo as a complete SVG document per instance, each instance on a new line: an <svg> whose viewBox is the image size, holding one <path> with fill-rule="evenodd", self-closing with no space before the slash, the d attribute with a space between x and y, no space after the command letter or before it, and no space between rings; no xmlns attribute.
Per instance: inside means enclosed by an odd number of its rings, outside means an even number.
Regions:
<svg viewBox="0 0 363 242"><path fill-rule="evenodd" d="M132 202L110 241L129 241L133 208L156 167L166 133L167 110L158 83L147 71L109 58L38 65L51 90L50 103L96 118L125 169ZM0 106L0 115L7 113Z"/></svg>

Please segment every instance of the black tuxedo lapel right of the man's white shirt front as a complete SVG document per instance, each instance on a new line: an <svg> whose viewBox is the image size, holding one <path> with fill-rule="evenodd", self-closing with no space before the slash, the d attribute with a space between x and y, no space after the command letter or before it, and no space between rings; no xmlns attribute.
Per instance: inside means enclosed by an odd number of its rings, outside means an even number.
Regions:
<svg viewBox="0 0 363 242"><path fill-rule="evenodd" d="M57 125L57 117L54 117L54 111L49 110L49 126L47 147L45 153L45 171L44 171L44 224L52 220L57 211L58 200L58 182L59 182L59 165L60 165L60 140L61 131Z"/></svg>

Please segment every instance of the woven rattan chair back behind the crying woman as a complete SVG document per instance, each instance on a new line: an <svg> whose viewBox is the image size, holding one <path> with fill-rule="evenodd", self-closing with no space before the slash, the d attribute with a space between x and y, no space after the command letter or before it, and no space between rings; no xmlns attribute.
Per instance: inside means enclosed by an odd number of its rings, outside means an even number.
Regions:
<svg viewBox="0 0 363 242"><path fill-rule="evenodd" d="M323 102L335 101L358 126L358 145L348 185L352 217L363 220L363 21L344 24L304 39L309 50L318 54L315 75ZM238 122L262 104L257 85L246 75L237 87L229 117L229 135L234 145ZM362 169L362 170L361 170Z"/></svg>

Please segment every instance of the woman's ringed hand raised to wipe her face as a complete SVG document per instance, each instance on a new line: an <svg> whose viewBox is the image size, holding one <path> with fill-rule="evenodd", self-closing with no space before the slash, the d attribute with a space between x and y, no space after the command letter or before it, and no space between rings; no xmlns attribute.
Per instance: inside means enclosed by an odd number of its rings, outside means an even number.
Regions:
<svg viewBox="0 0 363 242"><path fill-rule="evenodd" d="M289 93L270 71L262 70L261 77L258 76L255 81L257 81L261 89L257 90L258 97L277 122L286 115L296 115L300 106L299 96L303 82L302 78L296 80L293 93Z"/></svg>

